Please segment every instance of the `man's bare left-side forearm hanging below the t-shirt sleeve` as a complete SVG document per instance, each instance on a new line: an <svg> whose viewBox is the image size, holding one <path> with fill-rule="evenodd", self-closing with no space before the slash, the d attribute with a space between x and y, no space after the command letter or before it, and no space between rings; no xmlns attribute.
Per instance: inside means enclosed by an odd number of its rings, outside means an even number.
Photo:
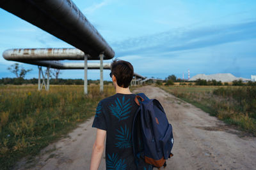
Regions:
<svg viewBox="0 0 256 170"><path fill-rule="evenodd" d="M90 170L97 170L100 165L100 159L104 151L104 141L106 138L106 131L97 129L97 137L92 148L92 159Z"/></svg>

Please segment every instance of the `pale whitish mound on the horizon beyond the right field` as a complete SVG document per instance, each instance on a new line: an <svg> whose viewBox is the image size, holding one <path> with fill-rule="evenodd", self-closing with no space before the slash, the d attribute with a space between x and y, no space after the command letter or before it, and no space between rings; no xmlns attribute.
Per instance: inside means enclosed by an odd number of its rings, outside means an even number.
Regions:
<svg viewBox="0 0 256 170"><path fill-rule="evenodd" d="M205 74L197 74L196 76L193 76L189 81L195 81L197 79L202 79L202 80L216 80L216 81L222 81L222 82L229 82L229 81L234 81L234 80L243 80L243 81L248 81L250 79L246 78L241 78L241 77L236 77L233 74L230 73L219 73L219 74L210 74L210 75L205 75Z"/></svg>

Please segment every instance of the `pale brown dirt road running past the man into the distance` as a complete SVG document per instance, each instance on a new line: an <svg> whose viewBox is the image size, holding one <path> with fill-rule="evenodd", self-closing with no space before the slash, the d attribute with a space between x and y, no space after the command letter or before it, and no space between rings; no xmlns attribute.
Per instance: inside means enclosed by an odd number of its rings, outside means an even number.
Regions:
<svg viewBox="0 0 256 170"><path fill-rule="evenodd" d="M163 105L173 125L172 159L166 169L256 169L256 138L239 138L241 132L157 87L141 87ZM47 146L32 163L21 169L89 169L96 129L93 118L68 134L69 138ZM23 161L24 162L24 161ZM102 158L99 169L105 169Z"/></svg>

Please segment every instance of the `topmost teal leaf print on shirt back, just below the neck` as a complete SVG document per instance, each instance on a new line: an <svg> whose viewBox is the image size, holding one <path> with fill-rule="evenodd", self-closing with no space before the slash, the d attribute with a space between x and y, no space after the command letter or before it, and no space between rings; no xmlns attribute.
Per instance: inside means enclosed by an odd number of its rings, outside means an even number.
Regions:
<svg viewBox="0 0 256 170"><path fill-rule="evenodd" d="M130 99L125 101L125 98L123 96L122 103L120 102L120 100L118 98L116 98L116 100L115 100L116 106L114 106L114 104L111 104L111 106L109 106L109 109L110 109L112 115L114 115L116 118L118 118L118 121L125 120L126 118L129 118L129 113L131 113L131 110L129 110L131 108L131 103L129 103L129 101L130 101Z"/></svg>

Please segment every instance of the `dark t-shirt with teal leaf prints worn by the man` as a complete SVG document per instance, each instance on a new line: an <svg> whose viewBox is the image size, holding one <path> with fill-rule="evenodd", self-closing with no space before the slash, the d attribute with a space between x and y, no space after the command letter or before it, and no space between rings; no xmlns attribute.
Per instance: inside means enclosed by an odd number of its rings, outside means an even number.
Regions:
<svg viewBox="0 0 256 170"><path fill-rule="evenodd" d="M132 150L132 122L138 105L135 94L115 94L100 101L92 127L107 131L106 169L137 169ZM143 159L138 169L152 169Z"/></svg>

